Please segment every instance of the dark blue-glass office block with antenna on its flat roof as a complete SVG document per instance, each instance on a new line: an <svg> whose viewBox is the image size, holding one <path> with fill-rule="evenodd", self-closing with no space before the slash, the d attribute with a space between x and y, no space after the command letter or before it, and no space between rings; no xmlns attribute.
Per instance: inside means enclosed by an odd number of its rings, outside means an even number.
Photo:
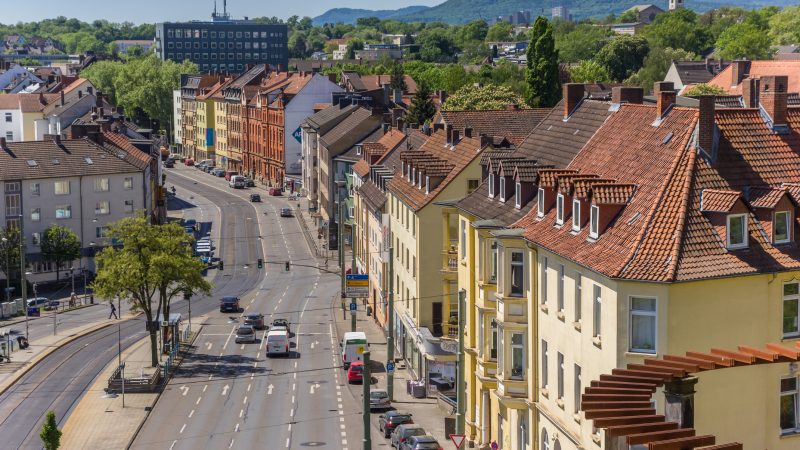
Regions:
<svg viewBox="0 0 800 450"><path fill-rule="evenodd" d="M191 61L203 72L242 73L255 64L286 69L286 25L230 19L216 12L212 21L156 24L155 52L162 60Z"/></svg>

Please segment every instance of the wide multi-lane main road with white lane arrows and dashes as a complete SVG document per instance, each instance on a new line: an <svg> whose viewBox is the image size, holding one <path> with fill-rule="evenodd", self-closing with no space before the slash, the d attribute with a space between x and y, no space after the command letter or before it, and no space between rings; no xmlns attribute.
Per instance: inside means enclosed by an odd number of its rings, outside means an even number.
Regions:
<svg viewBox="0 0 800 450"><path fill-rule="evenodd" d="M185 181L184 174L196 181ZM238 274L264 254L265 268L255 288L240 294L244 313L291 322L292 352L267 358L263 332L254 344L236 344L240 315L212 312L187 357L159 399L134 442L135 449L304 448L348 449L361 446L360 407L347 390L333 342L331 299L339 278L316 268L295 218L281 218L285 198L250 204L249 190L232 190L224 180L194 169L169 172L178 196L202 192L240 216L223 224L224 274ZM197 184L194 184L197 183ZM264 214L264 211L267 214ZM260 238L259 238L260 236ZM235 250L234 250L235 248ZM232 264L235 261L235 264ZM291 270L284 264L290 261ZM229 269L229 267L231 269ZM235 269L234 269L235 267Z"/></svg>

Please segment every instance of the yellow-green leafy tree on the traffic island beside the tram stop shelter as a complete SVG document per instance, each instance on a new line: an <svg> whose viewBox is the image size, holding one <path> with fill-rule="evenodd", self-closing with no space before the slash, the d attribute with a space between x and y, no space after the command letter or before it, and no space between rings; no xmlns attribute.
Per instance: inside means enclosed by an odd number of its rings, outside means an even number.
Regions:
<svg viewBox="0 0 800 450"><path fill-rule="evenodd" d="M205 265L192 255L194 239L177 223L152 225L142 215L109 227L109 236L121 246L107 247L97 256L94 291L107 298L117 295L153 322L159 312L168 317L170 301L180 292L208 294L211 284L202 277ZM156 330L150 329L150 356L158 366Z"/></svg>

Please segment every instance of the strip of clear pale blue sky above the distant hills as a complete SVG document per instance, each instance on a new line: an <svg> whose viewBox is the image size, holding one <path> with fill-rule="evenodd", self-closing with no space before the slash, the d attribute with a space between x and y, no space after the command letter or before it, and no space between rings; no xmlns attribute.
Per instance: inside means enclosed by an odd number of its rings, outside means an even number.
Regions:
<svg viewBox="0 0 800 450"><path fill-rule="evenodd" d="M315 17L332 8L397 9L411 5L433 6L444 0L228 0L228 12L234 18L293 15ZM223 0L217 0L222 11ZM0 23L34 22L66 16L83 21L106 19L111 22L156 23L178 20L207 20L214 9L214 0L36 0L26 2L2 0Z"/></svg>

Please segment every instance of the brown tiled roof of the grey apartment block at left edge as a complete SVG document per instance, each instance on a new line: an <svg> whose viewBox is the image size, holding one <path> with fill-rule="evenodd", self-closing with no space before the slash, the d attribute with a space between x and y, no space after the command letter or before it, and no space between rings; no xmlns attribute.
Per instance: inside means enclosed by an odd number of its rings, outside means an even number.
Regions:
<svg viewBox="0 0 800 450"><path fill-rule="evenodd" d="M0 150L0 176L6 180L63 178L141 172L128 152L104 148L89 139L9 142ZM145 166L146 167L146 166Z"/></svg>

